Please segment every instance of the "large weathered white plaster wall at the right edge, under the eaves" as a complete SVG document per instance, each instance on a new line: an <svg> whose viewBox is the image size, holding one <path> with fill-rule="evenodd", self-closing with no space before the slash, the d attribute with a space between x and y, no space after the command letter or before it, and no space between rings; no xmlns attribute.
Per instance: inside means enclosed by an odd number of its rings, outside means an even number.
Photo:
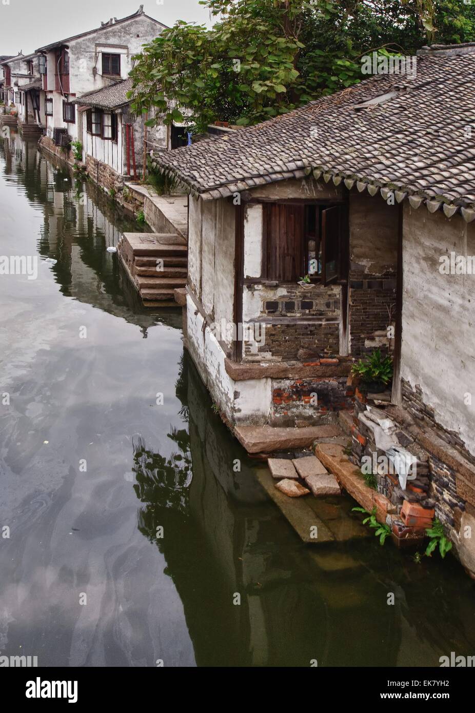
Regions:
<svg viewBox="0 0 475 713"><path fill-rule="evenodd" d="M441 275L439 257L475 255L475 228L404 205L401 376L475 454L475 275ZM471 394L471 405L464 403Z"/></svg>

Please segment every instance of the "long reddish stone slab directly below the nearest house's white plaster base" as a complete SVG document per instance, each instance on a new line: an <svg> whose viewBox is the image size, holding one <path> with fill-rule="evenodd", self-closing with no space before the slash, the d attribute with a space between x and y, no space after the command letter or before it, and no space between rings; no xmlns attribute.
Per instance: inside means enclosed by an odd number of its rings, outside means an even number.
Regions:
<svg viewBox="0 0 475 713"><path fill-rule="evenodd" d="M310 448L312 443L335 443L347 437L339 426L305 426L302 429L272 426L236 426L234 434L247 453L272 453L293 448Z"/></svg>

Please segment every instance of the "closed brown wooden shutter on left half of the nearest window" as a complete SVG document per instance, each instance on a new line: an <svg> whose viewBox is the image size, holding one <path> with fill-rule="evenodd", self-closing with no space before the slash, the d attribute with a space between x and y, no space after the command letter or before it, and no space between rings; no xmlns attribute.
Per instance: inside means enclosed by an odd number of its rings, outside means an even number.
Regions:
<svg viewBox="0 0 475 713"><path fill-rule="evenodd" d="M296 282L305 275L305 207L285 203L264 205L267 279Z"/></svg>

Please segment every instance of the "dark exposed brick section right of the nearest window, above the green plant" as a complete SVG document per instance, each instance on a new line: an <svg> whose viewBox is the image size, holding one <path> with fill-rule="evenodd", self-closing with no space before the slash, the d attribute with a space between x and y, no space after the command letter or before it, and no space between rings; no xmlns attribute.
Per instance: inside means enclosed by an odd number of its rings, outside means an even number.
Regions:
<svg viewBox="0 0 475 713"><path fill-rule="evenodd" d="M389 315L391 312L391 317ZM387 327L396 318L396 277L368 275L352 270L349 274L349 334L353 356L369 354L380 347L387 352ZM375 333L380 334L375 334Z"/></svg>

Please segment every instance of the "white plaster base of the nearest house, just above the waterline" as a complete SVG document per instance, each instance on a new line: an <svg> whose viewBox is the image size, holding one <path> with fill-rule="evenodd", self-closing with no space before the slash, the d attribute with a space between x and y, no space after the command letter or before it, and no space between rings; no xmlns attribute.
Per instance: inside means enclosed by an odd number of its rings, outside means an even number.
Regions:
<svg viewBox="0 0 475 713"><path fill-rule="evenodd" d="M265 424L272 404L271 380L234 381L225 370L225 353L187 297L188 347L213 401L233 424Z"/></svg>

